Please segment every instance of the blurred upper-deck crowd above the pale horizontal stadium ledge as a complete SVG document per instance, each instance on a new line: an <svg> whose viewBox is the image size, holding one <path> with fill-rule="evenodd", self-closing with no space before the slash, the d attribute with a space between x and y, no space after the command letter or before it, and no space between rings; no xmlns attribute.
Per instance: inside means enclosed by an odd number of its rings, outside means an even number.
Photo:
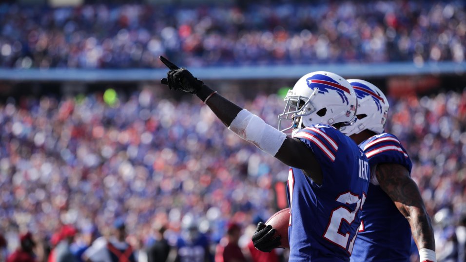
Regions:
<svg viewBox="0 0 466 262"><path fill-rule="evenodd" d="M273 2L273 1L271 1ZM157 68L465 61L461 0L239 6L0 3L0 67Z"/></svg>

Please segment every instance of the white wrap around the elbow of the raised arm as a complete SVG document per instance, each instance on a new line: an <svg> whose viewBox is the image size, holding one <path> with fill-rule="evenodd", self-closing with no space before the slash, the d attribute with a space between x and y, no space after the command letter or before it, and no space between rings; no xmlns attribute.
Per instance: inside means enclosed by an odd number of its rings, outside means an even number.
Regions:
<svg viewBox="0 0 466 262"><path fill-rule="evenodd" d="M266 124L246 109L236 115L228 129L272 156L278 152L287 137L285 133Z"/></svg>

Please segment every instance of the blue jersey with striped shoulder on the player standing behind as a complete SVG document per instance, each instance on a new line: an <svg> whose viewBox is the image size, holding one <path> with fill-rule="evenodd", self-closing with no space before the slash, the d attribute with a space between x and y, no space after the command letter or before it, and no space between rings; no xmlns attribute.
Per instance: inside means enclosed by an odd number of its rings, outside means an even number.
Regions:
<svg viewBox="0 0 466 262"><path fill-rule="evenodd" d="M411 172L412 163L408 153L392 134L374 135L359 144L359 147L366 153L371 168L379 163L395 163ZM378 186L377 180L371 179L351 261L408 262L410 247L411 229L408 221Z"/></svg>

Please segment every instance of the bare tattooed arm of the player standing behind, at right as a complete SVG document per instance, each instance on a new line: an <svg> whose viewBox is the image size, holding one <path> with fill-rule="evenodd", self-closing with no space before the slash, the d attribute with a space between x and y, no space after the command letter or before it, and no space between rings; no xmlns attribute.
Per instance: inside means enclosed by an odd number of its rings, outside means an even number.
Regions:
<svg viewBox="0 0 466 262"><path fill-rule="evenodd" d="M435 251L435 240L430 218L416 183L402 165L379 164L375 175L380 187L393 200L411 226L412 236L418 249Z"/></svg>

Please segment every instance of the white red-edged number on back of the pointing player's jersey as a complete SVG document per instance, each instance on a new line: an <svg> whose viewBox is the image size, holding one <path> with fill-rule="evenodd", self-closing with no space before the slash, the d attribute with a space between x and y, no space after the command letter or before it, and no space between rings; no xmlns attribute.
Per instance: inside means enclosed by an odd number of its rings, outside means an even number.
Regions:
<svg viewBox="0 0 466 262"><path fill-rule="evenodd" d="M351 192L343 193L338 196L336 201L345 203L347 205L356 203L356 208L354 208L353 211L349 210L346 206L339 206L336 209L333 209L330 215L329 225L327 225L327 229L324 232L325 239L347 250L349 255L351 255L351 252L353 251L354 240L358 234L359 227L356 229L356 234L354 234L354 237L349 242L349 232L344 234L340 233L341 224L344 223L344 220L347 224L351 225L356 217L356 213L360 209L362 210L365 200L365 194L363 194L362 199L359 198L358 195L354 195Z"/></svg>

